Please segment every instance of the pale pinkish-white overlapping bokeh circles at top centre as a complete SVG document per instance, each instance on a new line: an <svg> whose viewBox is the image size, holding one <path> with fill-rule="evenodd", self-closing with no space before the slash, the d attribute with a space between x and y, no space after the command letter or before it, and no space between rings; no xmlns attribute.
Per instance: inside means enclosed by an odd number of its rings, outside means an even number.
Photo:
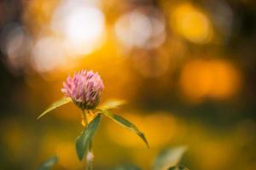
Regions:
<svg viewBox="0 0 256 170"><path fill-rule="evenodd" d="M165 22L155 8L138 8L122 15L115 24L119 41L128 48L157 48L166 38Z"/></svg>

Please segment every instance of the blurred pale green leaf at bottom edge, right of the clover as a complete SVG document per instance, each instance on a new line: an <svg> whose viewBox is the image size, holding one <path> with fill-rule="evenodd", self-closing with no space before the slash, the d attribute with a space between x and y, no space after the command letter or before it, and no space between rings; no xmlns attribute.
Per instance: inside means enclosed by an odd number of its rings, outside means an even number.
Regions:
<svg viewBox="0 0 256 170"><path fill-rule="evenodd" d="M185 151L185 146L178 146L161 151L154 160L152 170L166 170L169 167L177 166L177 163L181 160Z"/></svg>

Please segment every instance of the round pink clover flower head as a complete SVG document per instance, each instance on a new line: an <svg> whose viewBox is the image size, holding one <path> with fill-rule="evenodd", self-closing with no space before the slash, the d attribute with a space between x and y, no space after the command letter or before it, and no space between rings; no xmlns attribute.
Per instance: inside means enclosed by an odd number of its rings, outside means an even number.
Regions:
<svg viewBox="0 0 256 170"><path fill-rule="evenodd" d="M98 105L104 85L102 78L93 71L79 71L63 82L61 92L70 97L80 109L94 109Z"/></svg>

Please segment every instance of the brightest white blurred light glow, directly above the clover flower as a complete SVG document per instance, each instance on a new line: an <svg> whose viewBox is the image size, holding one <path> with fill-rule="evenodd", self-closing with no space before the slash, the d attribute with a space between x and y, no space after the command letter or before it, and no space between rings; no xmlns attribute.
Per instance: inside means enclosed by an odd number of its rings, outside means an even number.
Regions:
<svg viewBox="0 0 256 170"><path fill-rule="evenodd" d="M103 41L104 14L84 1L64 1L55 9L51 28L61 34L73 55L90 54Z"/></svg>

